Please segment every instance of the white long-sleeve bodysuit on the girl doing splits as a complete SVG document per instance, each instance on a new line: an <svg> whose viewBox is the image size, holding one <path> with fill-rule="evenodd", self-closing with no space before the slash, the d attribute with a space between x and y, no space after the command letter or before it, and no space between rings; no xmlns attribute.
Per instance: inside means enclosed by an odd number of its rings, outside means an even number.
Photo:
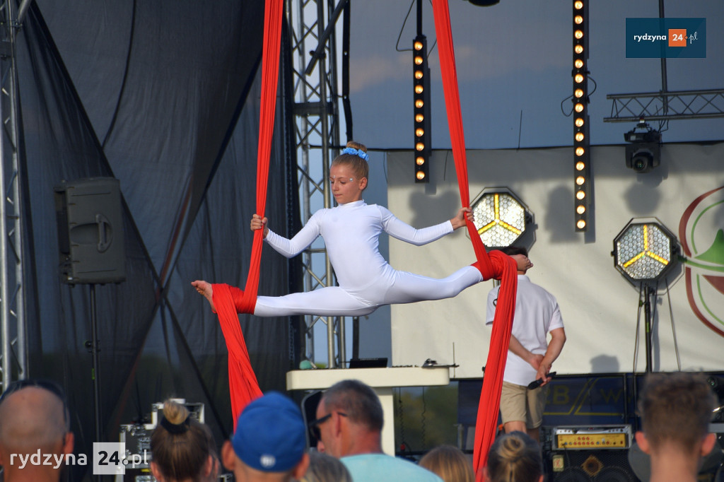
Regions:
<svg viewBox="0 0 724 482"><path fill-rule="evenodd" d="M254 315L364 316L382 305L454 297L483 279L473 266L443 279L397 271L379 253L379 235L383 231L419 246L450 234L452 224L445 221L415 229L387 208L358 200L317 211L291 240L270 229L266 242L287 258L321 235L340 285L279 297L259 296Z"/></svg>

